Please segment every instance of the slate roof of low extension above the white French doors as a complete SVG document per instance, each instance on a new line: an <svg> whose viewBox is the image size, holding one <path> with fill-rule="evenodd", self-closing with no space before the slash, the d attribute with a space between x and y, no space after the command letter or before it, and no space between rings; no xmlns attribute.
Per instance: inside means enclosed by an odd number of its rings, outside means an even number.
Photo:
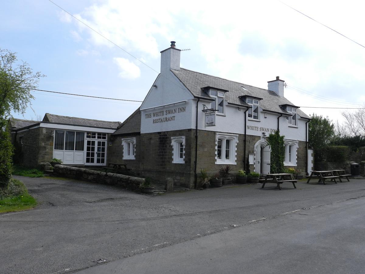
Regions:
<svg viewBox="0 0 365 274"><path fill-rule="evenodd" d="M91 126L93 128L117 129L121 122L100 121L78 117L61 116L46 113L43 122L59 123L72 126Z"/></svg>

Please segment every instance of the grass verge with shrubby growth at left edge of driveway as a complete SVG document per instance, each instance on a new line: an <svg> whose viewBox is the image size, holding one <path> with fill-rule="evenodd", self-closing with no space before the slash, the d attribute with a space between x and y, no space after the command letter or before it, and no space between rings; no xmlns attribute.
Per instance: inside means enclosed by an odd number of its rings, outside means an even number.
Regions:
<svg viewBox="0 0 365 274"><path fill-rule="evenodd" d="M19 180L11 179L7 188L0 190L0 213L27 210L36 205L37 200Z"/></svg>

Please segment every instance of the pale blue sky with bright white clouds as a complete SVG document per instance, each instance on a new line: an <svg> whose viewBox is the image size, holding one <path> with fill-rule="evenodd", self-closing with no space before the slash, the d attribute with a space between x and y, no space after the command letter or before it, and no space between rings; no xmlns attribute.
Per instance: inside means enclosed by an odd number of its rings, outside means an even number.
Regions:
<svg viewBox="0 0 365 274"><path fill-rule="evenodd" d="M278 0L52 1L114 44L49 0L3 1L0 48L46 75L41 90L143 101L160 72L160 51L176 41L178 49L190 49L181 52L183 68L260 88L280 76L284 96L308 115L343 123L346 109L324 107L364 106L362 1L283 0L361 45ZM140 106L32 94L34 111L15 118L52 113L123 122Z"/></svg>

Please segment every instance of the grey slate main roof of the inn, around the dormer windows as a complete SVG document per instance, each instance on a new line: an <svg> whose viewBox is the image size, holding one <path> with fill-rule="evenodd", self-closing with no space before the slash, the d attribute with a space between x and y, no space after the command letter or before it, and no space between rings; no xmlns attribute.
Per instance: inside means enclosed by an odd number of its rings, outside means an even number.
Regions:
<svg viewBox="0 0 365 274"><path fill-rule="evenodd" d="M228 92L225 94L225 99L230 104L247 106L247 104L239 98L239 96L246 95L263 98L260 100L260 107L267 111L287 114L288 112L283 110L280 105L293 105L293 103L291 103L285 97L278 96L275 92L265 90L263 88L253 87L252 85L242 84L204 73L190 71L189 69L184 68L180 68L178 71L171 69L171 71L195 97L211 99L211 97L208 96L208 94L205 93L202 88L214 87L221 90L228 90ZM246 90L244 90L242 87L244 87ZM303 118L310 118L300 109L297 109L297 114Z"/></svg>

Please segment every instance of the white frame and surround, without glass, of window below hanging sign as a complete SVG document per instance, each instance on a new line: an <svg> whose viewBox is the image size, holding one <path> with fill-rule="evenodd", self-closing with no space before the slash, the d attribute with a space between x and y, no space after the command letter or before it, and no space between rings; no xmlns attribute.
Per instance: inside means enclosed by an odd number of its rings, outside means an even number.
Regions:
<svg viewBox="0 0 365 274"><path fill-rule="evenodd" d="M218 159L218 142L221 140L221 149L224 151L224 155L226 155L226 141L230 140L229 147L229 159L226 157L222 157L222 159ZM216 133L215 134L215 164L230 164L237 165L237 143L238 143L238 134L226 134L226 133ZM223 152L222 152L223 154Z"/></svg>

